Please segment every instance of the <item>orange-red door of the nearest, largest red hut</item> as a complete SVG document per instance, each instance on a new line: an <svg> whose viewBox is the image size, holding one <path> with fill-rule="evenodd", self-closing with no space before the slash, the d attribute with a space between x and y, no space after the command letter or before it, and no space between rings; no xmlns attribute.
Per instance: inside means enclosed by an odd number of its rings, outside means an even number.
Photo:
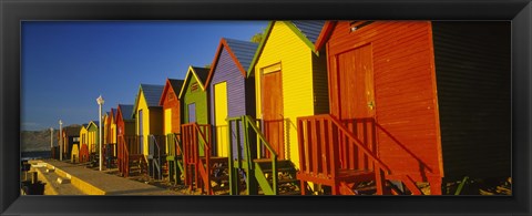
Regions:
<svg viewBox="0 0 532 216"><path fill-rule="evenodd" d="M362 143L375 147L375 94L371 44L337 55L339 86L339 117ZM355 145L342 143L342 166L367 169L372 165Z"/></svg>

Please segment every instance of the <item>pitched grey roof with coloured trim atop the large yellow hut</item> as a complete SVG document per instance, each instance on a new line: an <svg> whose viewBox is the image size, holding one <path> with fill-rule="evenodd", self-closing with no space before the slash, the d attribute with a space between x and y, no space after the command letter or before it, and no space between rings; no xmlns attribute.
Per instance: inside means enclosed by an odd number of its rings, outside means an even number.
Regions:
<svg viewBox="0 0 532 216"><path fill-rule="evenodd" d="M266 33L263 35L260 43L258 44L257 52L253 56L253 61L249 64L249 69L247 70L247 74L250 73L253 68L258 61L258 56L263 52L264 45L268 40L269 34L272 33L272 29L274 28L275 22L285 22L285 24L294 31L294 33L301 39L301 41L307 44L307 47L316 54L319 54L318 50L314 42L318 40L319 32L324 28L325 21L317 21L317 20L298 20L298 21L270 21L268 27L266 28Z"/></svg>

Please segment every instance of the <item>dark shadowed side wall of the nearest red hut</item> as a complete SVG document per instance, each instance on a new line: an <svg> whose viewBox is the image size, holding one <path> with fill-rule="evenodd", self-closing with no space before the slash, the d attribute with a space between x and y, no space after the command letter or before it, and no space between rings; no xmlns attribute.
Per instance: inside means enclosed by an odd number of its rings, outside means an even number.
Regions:
<svg viewBox="0 0 532 216"><path fill-rule="evenodd" d="M446 178L511 175L511 23L433 22Z"/></svg>

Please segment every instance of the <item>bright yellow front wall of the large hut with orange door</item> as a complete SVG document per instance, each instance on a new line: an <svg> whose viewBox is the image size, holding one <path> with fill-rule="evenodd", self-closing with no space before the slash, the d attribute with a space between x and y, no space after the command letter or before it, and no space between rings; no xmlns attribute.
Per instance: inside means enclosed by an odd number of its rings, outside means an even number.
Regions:
<svg viewBox="0 0 532 216"><path fill-rule="evenodd" d="M280 63L286 154L296 166L299 164L296 119L315 114L311 55L307 44L285 22L277 21L255 65L256 113L262 117L260 69Z"/></svg>

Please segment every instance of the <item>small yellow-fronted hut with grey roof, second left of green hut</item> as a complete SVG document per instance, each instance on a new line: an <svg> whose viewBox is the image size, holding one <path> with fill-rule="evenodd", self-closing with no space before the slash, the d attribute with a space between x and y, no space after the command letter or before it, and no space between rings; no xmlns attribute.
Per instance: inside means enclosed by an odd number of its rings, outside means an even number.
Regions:
<svg viewBox="0 0 532 216"><path fill-rule="evenodd" d="M147 158L151 175L162 177L165 138L163 107L158 105L164 85L141 84L131 117L135 119L140 152Z"/></svg>

